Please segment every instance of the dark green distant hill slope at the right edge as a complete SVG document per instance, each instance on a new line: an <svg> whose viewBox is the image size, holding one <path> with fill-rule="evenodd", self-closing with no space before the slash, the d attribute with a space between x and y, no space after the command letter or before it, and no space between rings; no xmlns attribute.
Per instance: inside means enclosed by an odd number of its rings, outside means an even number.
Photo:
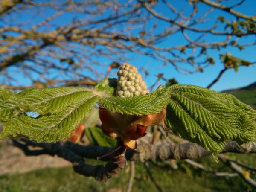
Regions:
<svg viewBox="0 0 256 192"><path fill-rule="evenodd" d="M224 90L223 92L232 94L241 102L244 102L256 109L256 82L246 87Z"/></svg>

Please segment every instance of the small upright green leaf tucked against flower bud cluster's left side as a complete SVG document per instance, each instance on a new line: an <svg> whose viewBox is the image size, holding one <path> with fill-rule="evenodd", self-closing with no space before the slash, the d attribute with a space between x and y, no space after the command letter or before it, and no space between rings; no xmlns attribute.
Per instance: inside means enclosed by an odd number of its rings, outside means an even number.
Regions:
<svg viewBox="0 0 256 192"><path fill-rule="evenodd" d="M99 84L96 85L96 91L104 91L109 95L114 95L115 89L117 86L117 79L116 78L105 78Z"/></svg>

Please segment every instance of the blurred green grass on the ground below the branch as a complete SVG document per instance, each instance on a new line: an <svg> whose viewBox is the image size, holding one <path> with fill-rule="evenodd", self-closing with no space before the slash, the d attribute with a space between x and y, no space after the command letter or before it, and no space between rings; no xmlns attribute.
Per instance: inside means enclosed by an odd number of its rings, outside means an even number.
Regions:
<svg viewBox="0 0 256 192"><path fill-rule="evenodd" d="M256 166L256 154L229 154L251 166ZM215 163L211 157L197 160L209 169L221 168L222 163ZM95 161L90 160L90 163ZM214 174L195 169L183 160L178 161L178 170L158 163L149 163L152 175L164 192L253 192L240 177L218 177ZM221 172L230 170L221 168ZM255 175L251 175L256 179ZM47 168L24 174L0 176L1 192L102 192L110 188L126 190L130 177L129 166L107 182L96 181L93 177L84 177L73 172L71 167ZM143 163L136 163L134 192L157 191L151 182Z"/></svg>

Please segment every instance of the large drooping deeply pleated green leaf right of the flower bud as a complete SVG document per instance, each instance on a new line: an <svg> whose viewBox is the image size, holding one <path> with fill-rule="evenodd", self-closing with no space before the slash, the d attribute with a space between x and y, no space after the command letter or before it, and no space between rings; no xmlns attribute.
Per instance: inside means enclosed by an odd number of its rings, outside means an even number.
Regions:
<svg viewBox="0 0 256 192"><path fill-rule="evenodd" d="M214 155L227 140L255 140L256 111L227 93L192 85L172 85L165 124L174 134L198 143Z"/></svg>

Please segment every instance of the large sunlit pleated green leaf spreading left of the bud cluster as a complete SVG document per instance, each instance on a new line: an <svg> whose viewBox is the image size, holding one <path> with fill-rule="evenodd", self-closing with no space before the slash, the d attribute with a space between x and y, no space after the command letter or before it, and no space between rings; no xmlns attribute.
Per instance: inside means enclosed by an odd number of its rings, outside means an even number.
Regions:
<svg viewBox="0 0 256 192"><path fill-rule="evenodd" d="M38 142L56 142L70 136L93 108L97 96L83 87L59 87L25 90L17 98L40 115L32 118L20 113L4 122L0 137L24 135Z"/></svg>

